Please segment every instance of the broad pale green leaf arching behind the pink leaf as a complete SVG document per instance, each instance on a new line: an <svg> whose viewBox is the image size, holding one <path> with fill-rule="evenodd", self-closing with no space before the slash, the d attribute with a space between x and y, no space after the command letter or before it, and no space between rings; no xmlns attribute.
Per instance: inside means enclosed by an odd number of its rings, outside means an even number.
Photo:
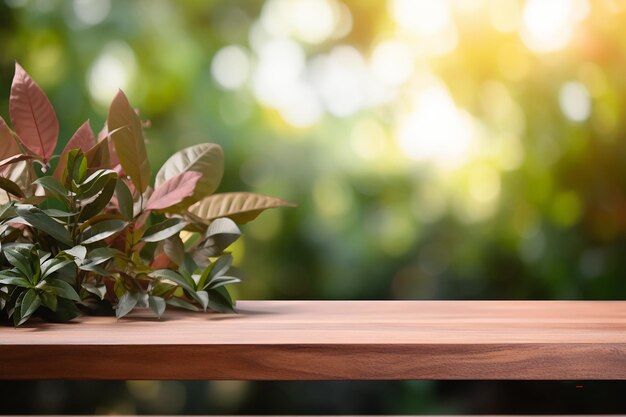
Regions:
<svg viewBox="0 0 626 417"><path fill-rule="evenodd" d="M185 199L179 206L189 204L207 197L215 192L224 174L224 153L221 146L213 143L202 143L190 146L172 155L161 167L155 178L155 188L175 176L195 171L202 174L196 184L193 195Z"/></svg>

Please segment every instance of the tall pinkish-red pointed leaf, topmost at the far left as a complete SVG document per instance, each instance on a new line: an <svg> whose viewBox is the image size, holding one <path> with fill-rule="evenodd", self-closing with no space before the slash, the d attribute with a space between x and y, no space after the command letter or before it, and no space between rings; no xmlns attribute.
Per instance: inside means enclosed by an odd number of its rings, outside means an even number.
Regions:
<svg viewBox="0 0 626 417"><path fill-rule="evenodd" d="M59 121L48 97L18 63L11 85L9 112L24 146L47 163L57 144Z"/></svg>

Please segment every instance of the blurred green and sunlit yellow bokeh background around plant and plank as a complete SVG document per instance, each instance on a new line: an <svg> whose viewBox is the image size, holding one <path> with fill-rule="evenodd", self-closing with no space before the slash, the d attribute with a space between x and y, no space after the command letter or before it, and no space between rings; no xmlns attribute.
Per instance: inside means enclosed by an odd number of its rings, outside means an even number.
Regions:
<svg viewBox="0 0 626 417"><path fill-rule="evenodd" d="M299 205L244 226L240 299L624 299L625 18L618 0L0 0L0 114L18 61L59 148L118 88L154 172L222 145L219 191ZM624 386L575 385L2 383L0 411L626 411Z"/></svg>

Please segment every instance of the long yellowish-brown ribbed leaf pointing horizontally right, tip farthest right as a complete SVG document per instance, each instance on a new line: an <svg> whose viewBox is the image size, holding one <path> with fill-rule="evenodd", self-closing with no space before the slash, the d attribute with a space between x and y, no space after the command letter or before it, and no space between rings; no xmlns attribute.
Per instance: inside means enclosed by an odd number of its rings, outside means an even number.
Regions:
<svg viewBox="0 0 626 417"><path fill-rule="evenodd" d="M280 198L255 193L221 193L198 201L189 207L189 212L207 223L220 217L228 217L237 224L245 224L264 210L275 207L295 205Z"/></svg>

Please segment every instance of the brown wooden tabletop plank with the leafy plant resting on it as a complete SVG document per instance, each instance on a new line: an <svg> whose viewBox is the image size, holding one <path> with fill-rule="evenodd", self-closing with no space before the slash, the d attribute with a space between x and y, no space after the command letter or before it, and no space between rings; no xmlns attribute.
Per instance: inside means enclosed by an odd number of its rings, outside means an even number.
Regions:
<svg viewBox="0 0 626 417"><path fill-rule="evenodd" d="M240 301L0 326L0 379L626 379L626 302Z"/></svg>

